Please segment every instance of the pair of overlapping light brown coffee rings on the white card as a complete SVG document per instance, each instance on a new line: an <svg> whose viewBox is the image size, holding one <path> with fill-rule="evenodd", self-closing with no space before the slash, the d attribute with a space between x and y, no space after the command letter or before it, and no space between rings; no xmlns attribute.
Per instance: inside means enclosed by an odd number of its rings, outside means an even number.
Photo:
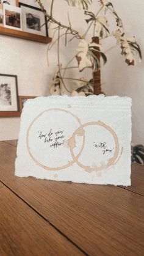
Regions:
<svg viewBox="0 0 144 256"><path fill-rule="evenodd" d="M32 128L32 125L34 124L34 122L41 116L43 115L43 113L45 112L49 112L49 111L62 111L62 112L66 112L70 115L72 115L77 122L79 123L79 128L77 128L73 135L70 137L70 139L68 140L70 141L75 141L75 137L76 134L83 136L83 141L82 141L82 147L81 150L79 151L79 153L77 154L77 156L74 156L73 153L73 143L69 143L68 146L70 148L70 152L71 152L71 156L73 158L72 161L70 161L68 164L65 164L62 167L49 167L49 166L45 166L43 164L41 164L40 162L37 161L37 159L34 158L34 156L31 153L31 149L29 147L29 132ZM80 163L78 161L79 157L81 156L82 151L84 150L84 145L85 145L85 133L82 131L84 131L84 128L86 126L90 126L90 125L98 125L98 126L102 126L103 128L105 128L107 131L109 131L110 134L112 134L113 139L115 141L115 153L113 155L112 158L109 159L107 164L102 164L99 167L90 167L90 166L84 166L82 163ZM46 170L62 170L62 169L66 169L67 167L72 166L74 163L77 163L78 166L82 167L82 169L84 169L87 172L92 172L92 171L98 171L98 170L103 170L103 169L107 169L108 167L112 166L113 164L115 164L116 159L118 158L118 153L119 153L119 143L118 143L118 137L117 134L115 133L115 131L112 130L112 128L110 128L110 126L106 125L105 123L98 121L98 122L88 122L88 123L84 123L83 125L81 124L80 120L76 117L76 115L72 114L70 111L64 110L64 109L48 109L46 111L41 112L39 115L37 115L37 117L35 117L35 119L31 122L31 125L29 126L28 130L27 130L27 136L26 136L26 144L27 144L27 151L29 152L29 155L31 156L31 158L34 160L34 162L36 164L38 164L38 166L43 167Z"/></svg>

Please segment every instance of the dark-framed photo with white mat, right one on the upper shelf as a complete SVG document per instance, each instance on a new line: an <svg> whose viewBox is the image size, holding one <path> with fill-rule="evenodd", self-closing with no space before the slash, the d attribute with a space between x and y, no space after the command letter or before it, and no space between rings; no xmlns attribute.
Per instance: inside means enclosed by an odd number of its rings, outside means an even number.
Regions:
<svg viewBox="0 0 144 256"><path fill-rule="evenodd" d="M19 2L23 31L48 37L46 17L41 9Z"/></svg>

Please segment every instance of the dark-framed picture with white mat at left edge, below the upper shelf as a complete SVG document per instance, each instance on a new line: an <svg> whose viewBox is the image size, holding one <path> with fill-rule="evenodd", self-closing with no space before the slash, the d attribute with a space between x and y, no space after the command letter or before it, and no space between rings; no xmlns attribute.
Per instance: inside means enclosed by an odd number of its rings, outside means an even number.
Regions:
<svg viewBox="0 0 144 256"><path fill-rule="evenodd" d="M19 110L17 76L0 74L0 116L15 116Z"/></svg>

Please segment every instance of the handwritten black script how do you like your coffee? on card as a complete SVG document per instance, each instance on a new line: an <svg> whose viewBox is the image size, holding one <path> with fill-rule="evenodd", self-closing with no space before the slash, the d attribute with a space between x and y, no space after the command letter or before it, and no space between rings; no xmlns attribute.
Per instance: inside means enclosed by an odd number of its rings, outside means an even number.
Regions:
<svg viewBox="0 0 144 256"><path fill-rule="evenodd" d="M53 131L51 128L48 133L38 131L38 139L40 139L44 144L49 144L49 147L51 148L62 146L65 142L64 138L63 130Z"/></svg>

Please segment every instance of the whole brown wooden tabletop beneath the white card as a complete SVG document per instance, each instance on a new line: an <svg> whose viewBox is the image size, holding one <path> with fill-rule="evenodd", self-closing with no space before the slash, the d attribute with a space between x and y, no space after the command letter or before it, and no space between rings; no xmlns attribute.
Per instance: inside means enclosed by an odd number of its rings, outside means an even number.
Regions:
<svg viewBox="0 0 144 256"><path fill-rule="evenodd" d="M144 255L144 166L132 186L14 176L16 141L0 142L0 255Z"/></svg>

